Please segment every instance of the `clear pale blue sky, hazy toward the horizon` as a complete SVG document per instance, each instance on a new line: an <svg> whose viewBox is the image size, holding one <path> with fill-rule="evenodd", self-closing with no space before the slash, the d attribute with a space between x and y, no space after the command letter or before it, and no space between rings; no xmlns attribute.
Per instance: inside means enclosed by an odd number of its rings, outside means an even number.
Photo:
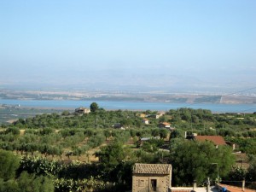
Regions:
<svg viewBox="0 0 256 192"><path fill-rule="evenodd" d="M255 0L1 0L0 88L256 87L255 10Z"/></svg>

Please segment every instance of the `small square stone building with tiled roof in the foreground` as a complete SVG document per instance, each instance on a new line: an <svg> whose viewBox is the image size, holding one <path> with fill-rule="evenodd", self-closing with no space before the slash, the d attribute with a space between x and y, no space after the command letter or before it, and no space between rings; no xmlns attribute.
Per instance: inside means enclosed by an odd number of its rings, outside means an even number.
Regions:
<svg viewBox="0 0 256 192"><path fill-rule="evenodd" d="M132 192L167 192L171 187L170 164L136 163L132 173Z"/></svg>

